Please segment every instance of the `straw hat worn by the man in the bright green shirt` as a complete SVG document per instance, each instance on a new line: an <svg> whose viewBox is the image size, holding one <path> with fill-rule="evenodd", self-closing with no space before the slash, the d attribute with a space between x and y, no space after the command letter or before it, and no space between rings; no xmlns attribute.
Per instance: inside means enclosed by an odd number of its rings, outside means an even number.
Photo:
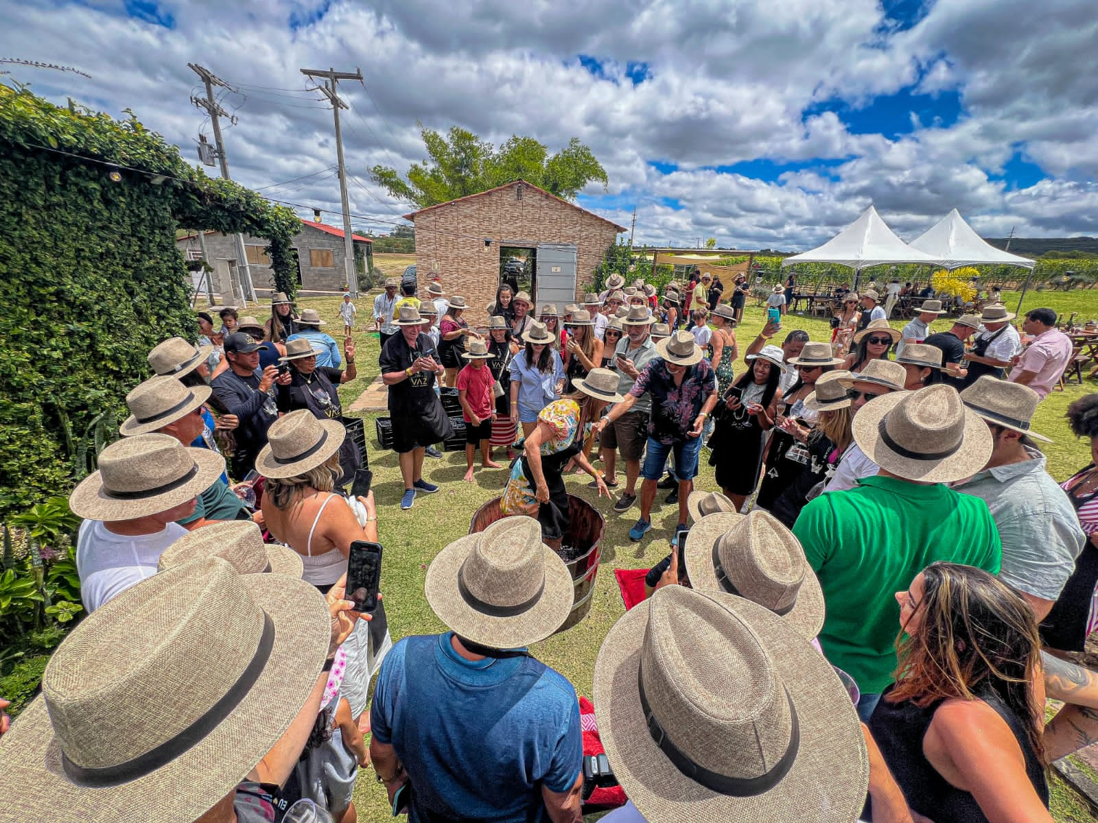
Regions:
<svg viewBox="0 0 1098 823"><path fill-rule="evenodd" d="M896 392L854 416L854 442L882 469L923 483L970 477L991 455L991 432L953 386Z"/></svg>

